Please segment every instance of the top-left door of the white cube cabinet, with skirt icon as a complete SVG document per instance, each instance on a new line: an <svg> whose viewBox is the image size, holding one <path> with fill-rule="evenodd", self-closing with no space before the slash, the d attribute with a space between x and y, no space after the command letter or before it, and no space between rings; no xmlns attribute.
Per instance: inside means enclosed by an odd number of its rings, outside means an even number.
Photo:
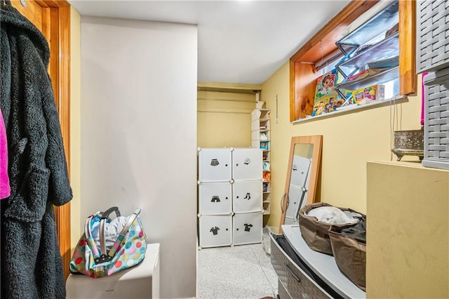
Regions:
<svg viewBox="0 0 449 299"><path fill-rule="evenodd" d="M199 149L198 176L201 181L230 181L232 179L232 151L223 149Z"/></svg>

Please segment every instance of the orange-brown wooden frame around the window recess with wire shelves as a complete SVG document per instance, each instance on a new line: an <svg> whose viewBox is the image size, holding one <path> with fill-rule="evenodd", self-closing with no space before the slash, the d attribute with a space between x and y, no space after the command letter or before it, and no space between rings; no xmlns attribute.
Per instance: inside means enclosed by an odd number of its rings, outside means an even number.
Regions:
<svg viewBox="0 0 449 299"><path fill-rule="evenodd" d="M399 92L416 95L416 3L399 1ZM290 122L304 119L314 106L316 79L314 64L337 49L335 42L351 22L379 0L352 0L290 58Z"/></svg>

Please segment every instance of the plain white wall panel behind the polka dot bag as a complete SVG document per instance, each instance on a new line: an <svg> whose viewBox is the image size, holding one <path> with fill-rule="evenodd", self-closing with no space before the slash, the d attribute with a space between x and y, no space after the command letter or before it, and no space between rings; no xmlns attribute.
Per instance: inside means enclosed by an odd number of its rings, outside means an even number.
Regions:
<svg viewBox="0 0 449 299"><path fill-rule="evenodd" d="M142 208L161 297L196 291L197 28L81 19L81 219Z"/></svg>

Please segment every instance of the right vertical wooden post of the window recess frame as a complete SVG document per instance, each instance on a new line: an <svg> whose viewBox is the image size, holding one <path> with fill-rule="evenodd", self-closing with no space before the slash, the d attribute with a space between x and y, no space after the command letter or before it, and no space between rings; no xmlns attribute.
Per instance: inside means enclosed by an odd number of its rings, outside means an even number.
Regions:
<svg viewBox="0 0 449 299"><path fill-rule="evenodd" d="M399 93L416 95L416 1L399 0L399 28Z"/></svg>

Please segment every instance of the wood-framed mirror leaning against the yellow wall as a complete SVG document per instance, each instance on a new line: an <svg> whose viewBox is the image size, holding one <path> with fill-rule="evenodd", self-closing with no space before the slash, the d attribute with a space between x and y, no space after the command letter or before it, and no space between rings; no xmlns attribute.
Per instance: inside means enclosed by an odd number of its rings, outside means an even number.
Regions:
<svg viewBox="0 0 449 299"><path fill-rule="evenodd" d="M292 138L286 189L281 200L280 231L281 225L297 223L302 206L315 202L322 143L322 135Z"/></svg>

